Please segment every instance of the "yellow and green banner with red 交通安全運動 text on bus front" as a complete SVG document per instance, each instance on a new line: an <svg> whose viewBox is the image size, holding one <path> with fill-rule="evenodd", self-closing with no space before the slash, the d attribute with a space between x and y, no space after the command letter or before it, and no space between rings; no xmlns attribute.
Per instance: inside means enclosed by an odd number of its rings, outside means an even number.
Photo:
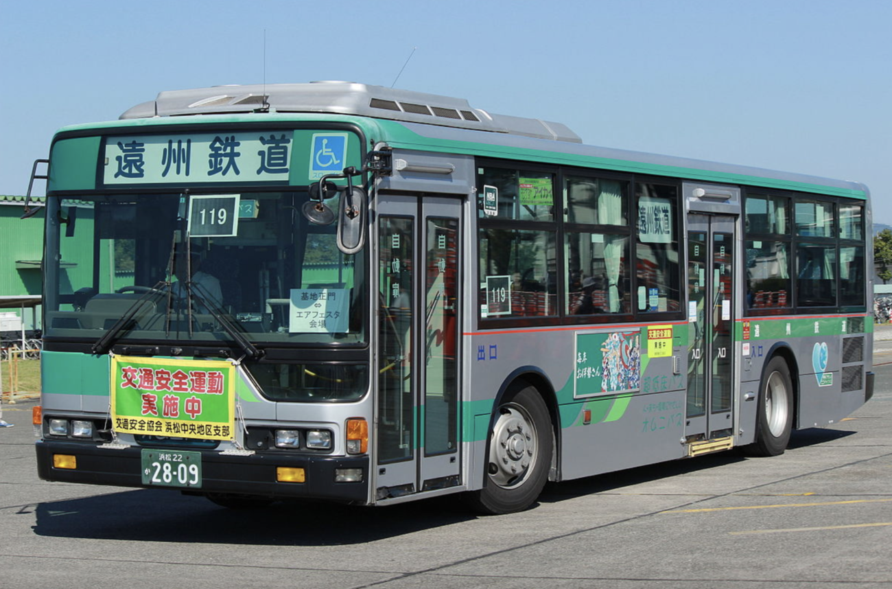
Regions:
<svg viewBox="0 0 892 589"><path fill-rule="evenodd" d="M119 434L235 437L235 366L228 361L111 358L111 422Z"/></svg>

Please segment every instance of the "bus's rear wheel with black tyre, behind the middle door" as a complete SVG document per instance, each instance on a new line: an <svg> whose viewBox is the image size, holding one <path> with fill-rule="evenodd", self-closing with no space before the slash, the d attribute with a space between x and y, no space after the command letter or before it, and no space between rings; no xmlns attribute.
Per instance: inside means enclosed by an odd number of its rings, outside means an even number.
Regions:
<svg viewBox="0 0 892 589"><path fill-rule="evenodd" d="M793 381L787 362L780 356L774 356L765 367L758 403L756 443L750 446L751 453L782 454L793 429Z"/></svg>

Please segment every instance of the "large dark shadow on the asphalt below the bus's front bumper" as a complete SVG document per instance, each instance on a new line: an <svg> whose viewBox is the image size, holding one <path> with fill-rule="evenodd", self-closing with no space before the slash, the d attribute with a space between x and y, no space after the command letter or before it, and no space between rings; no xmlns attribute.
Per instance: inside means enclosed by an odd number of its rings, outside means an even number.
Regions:
<svg viewBox="0 0 892 589"><path fill-rule="evenodd" d="M33 529L43 536L273 546L367 543L476 517L454 497L379 508L276 502L228 510L153 489L39 503L36 512Z"/></svg>

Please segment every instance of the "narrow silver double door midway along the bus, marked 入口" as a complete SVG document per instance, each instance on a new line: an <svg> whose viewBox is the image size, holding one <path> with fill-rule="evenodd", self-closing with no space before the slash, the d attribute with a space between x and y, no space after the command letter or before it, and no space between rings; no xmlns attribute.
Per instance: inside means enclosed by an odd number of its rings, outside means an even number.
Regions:
<svg viewBox="0 0 892 589"><path fill-rule="evenodd" d="M734 231L733 217L688 216L689 443L733 434Z"/></svg>

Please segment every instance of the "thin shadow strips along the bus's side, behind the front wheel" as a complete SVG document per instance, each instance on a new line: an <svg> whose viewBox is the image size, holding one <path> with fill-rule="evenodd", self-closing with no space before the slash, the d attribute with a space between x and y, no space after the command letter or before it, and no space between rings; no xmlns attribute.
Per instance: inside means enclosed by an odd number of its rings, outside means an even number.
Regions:
<svg viewBox="0 0 892 589"><path fill-rule="evenodd" d="M817 444L827 444L856 433L855 431L840 431L817 427L801 429L792 433L787 447L789 450L797 450L798 448ZM578 478L561 483L549 483L549 485L546 485L539 501L541 503L556 503L583 495L621 491L624 487L650 483L663 478L687 475L702 470L717 469L743 460L771 460L771 458L753 458L743 448L736 448L730 452L706 454L690 460L658 462L657 464L608 472L602 475L595 475L594 477Z"/></svg>

